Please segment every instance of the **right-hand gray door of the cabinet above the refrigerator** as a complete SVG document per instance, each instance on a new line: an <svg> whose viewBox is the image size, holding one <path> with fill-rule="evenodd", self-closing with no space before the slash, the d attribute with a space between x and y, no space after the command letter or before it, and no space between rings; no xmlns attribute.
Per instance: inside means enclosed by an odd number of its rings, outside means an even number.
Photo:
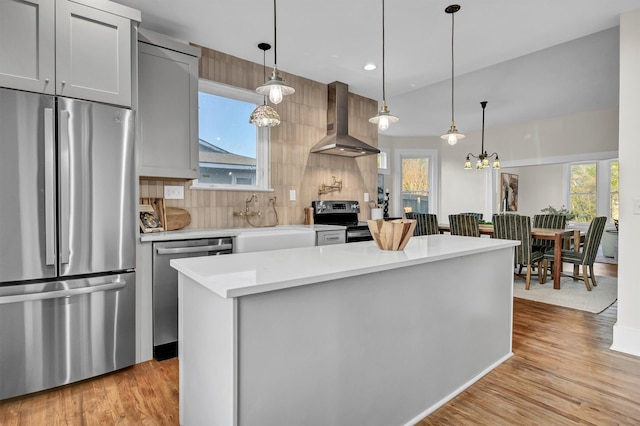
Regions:
<svg viewBox="0 0 640 426"><path fill-rule="evenodd" d="M56 3L56 93L131 106L131 20Z"/></svg>

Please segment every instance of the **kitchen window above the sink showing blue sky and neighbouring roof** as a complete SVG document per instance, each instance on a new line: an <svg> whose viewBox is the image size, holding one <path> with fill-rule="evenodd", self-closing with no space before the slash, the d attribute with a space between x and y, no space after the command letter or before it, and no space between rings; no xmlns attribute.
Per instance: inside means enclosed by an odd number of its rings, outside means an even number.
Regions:
<svg viewBox="0 0 640 426"><path fill-rule="evenodd" d="M200 80L200 173L194 188L267 190L269 129L249 123L262 95Z"/></svg>

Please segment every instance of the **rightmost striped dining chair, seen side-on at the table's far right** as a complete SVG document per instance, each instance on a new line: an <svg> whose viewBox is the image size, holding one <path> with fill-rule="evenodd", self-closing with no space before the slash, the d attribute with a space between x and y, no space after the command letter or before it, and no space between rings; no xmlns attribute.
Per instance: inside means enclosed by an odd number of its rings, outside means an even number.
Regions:
<svg viewBox="0 0 640 426"><path fill-rule="evenodd" d="M562 262L573 263L577 266L582 266L582 276L579 274L570 275L574 280L584 281L584 285L587 290L591 291L589 285L589 278L591 278L591 284L597 286L596 276L593 273L593 264L596 261L596 254L598 253L598 247L600 246L600 240L602 240L602 234L604 233L604 226L607 223L607 218L604 216L594 218L589 224L589 229L584 236L584 244L580 248L580 251L575 250L562 250ZM553 248L545 251L544 260L553 262L554 251ZM546 279L547 271L544 269L544 279ZM587 269L589 269L587 273ZM591 274L591 276L589 276Z"/></svg>

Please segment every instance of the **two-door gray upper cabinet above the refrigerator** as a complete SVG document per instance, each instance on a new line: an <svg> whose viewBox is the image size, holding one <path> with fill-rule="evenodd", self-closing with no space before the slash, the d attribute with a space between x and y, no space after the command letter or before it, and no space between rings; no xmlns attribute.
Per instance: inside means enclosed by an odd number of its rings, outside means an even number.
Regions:
<svg viewBox="0 0 640 426"><path fill-rule="evenodd" d="M139 21L107 0L2 0L0 85L130 107Z"/></svg>

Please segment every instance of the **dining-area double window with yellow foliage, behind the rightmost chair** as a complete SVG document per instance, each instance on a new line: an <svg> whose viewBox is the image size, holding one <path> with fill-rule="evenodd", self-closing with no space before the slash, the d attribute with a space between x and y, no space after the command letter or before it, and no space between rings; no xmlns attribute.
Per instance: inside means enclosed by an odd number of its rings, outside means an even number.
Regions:
<svg viewBox="0 0 640 426"><path fill-rule="evenodd" d="M596 216L618 219L618 160L571 163L568 205L576 222L591 222Z"/></svg>

